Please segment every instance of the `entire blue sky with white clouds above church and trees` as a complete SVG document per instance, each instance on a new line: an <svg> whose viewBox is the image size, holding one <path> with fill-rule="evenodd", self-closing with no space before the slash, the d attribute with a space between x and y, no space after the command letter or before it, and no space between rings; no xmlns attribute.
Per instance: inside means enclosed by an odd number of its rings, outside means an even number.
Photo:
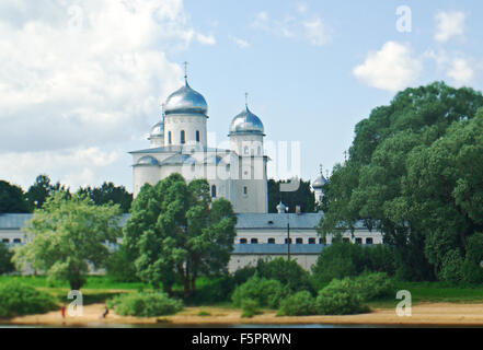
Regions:
<svg viewBox="0 0 483 350"><path fill-rule="evenodd" d="M396 91L482 90L482 16L480 0L2 0L0 178L131 189L127 152L149 147L183 61L214 145L249 92L266 140L299 142L314 178Z"/></svg>

